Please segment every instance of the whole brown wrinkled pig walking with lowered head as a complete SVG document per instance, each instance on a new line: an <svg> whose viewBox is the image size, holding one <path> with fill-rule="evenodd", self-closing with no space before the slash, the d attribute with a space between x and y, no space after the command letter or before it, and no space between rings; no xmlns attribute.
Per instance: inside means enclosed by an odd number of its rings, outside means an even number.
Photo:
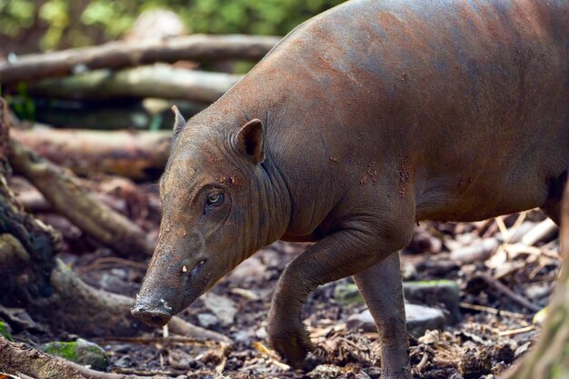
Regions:
<svg viewBox="0 0 569 379"><path fill-rule="evenodd" d="M176 134L133 314L165 324L260 247L316 241L275 288L275 349L302 366L307 294L354 275L382 376L409 378L394 253L414 223L537 206L558 220L569 0L348 2L296 28ZM215 194L224 201L207 205Z"/></svg>

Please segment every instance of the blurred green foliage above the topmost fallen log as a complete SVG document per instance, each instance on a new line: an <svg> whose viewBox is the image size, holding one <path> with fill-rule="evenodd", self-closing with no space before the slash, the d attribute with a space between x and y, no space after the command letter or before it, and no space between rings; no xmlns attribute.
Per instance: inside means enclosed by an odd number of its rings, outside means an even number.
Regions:
<svg viewBox="0 0 569 379"><path fill-rule="evenodd" d="M101 44L142 12L169 9L190 33L285 35L344 0L0 0L0 54Z"/></svg>

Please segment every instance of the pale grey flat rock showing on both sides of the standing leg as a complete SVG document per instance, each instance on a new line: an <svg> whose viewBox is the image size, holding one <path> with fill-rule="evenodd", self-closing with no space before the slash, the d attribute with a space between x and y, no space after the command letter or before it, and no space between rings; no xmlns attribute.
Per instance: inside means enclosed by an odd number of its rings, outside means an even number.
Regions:
<svg viewBox="0 0 569 379"><path fill-rule="evenodd" d="M444 328L442 311L423 305L405 304L407 331L415 338L421 337L425 331ZM374 318L369 311L352 314L346 321L348 329L359 329L364 332L376 332Z"/></svg>

